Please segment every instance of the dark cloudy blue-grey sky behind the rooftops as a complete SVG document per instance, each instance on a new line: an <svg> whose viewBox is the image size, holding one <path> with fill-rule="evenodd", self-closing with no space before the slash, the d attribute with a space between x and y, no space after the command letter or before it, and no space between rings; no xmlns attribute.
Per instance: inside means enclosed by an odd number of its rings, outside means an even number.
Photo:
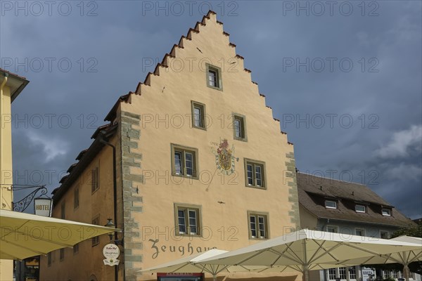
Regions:
<svg viewBox="0 0 422 281"><path fill-rule="evenodd" d="M300 171L422 216L421 1L0 3L1 67L30 80L13 103L15 183L58 187L117 98L211 8Z"/></svg>

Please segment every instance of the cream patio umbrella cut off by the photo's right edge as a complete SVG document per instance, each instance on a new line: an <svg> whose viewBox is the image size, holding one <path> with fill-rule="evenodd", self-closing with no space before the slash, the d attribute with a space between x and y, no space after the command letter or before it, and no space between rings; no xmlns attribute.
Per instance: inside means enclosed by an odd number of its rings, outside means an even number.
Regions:
<svg viewBox="0 0 422 281"><path fill-rule="evenodd" d="M381 254L378 256L367 256L364 258L348 259L346 261L341 262L342 266L357 266L360 264L400 263L404 266L404 277L407 281L409 281L409 263L412 263L414 261L422 261L422 238L404 235L392 238L390 240L394 240L397 242L413 243L416 245L417 248L411 249L409 251L397 251L395 253L390 254Z"/></svg>

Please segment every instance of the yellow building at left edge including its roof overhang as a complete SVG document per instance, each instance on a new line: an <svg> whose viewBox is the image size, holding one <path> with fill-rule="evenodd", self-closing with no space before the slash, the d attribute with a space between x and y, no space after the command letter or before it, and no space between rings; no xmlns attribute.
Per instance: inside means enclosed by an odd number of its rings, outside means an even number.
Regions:
<svg viewBox="0 0 422 281"><path fill-rule="evenodd" d="M0 68L0 209L13 209L11 105L29 83L24 77ZM0 260L0 280L13 279L13 261Z"/></svg>

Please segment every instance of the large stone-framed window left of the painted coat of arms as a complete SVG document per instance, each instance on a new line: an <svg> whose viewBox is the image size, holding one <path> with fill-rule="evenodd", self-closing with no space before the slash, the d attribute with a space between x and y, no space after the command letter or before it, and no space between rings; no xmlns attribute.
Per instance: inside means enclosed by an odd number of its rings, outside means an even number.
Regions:
<svg viewBox="0 0 422 281"><path fill-rule="evenodd" d="M198 150L172 144L172 175L197 178Z"/></svg>

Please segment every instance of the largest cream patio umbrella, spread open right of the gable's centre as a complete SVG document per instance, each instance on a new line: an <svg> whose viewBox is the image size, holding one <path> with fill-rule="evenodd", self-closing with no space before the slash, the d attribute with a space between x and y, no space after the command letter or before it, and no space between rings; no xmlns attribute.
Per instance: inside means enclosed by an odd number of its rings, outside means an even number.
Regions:
<svg viewBox="0 0 422 281"><path fill-rule="evenodd" d="M268 270L291 270L309 280L309 270L333 268L351 258L363 258L398 251L418 249L413 243L342 235L317 230L299 230L234 251L229 251L199 263L224 266L268 266ZM331 265L330 265L331 263ZM267 270L267 269L266 269Z"/></svg>

